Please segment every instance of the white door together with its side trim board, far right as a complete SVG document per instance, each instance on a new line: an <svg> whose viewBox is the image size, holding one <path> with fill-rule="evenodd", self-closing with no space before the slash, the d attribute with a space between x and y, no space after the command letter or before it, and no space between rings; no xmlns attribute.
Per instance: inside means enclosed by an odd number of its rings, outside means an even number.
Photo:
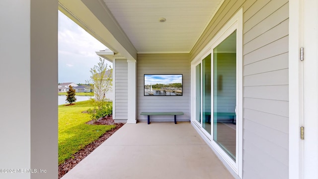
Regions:
<svg viewBox="0 0 318 179"><path fill-rule="evenodd" d="M289 1L290 179L318 178L317 11L317 0ZM304 61L300 61L301 47ZM305 127L304 140L300 138L301 126Z"/></svg>

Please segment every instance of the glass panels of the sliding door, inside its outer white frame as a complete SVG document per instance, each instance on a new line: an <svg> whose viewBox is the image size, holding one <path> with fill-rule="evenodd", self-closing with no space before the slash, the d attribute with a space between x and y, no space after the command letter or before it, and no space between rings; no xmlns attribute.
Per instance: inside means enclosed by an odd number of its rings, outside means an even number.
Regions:
<svg viewBox="0 0 318 179"><path fill-rule="evenodd" d="M213 48L213 56L207 53L195 66L196 122L234 161L238 104L236 39L234 31Z"/></svg>

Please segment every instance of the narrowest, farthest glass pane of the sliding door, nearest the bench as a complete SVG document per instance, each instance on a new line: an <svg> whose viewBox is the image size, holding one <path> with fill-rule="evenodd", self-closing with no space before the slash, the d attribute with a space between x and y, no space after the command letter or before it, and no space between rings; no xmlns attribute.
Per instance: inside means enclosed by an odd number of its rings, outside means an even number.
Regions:
<svg viewBox="0 0 318 179"><path fill-rule="evenodd" d="M201 64L195 67L195 119L201 123Z"/></svg>

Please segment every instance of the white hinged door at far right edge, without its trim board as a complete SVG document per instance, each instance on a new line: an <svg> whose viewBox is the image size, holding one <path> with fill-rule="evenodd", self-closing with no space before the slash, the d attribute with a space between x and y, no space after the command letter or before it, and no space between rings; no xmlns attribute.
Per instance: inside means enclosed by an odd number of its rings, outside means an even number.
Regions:
<svg viewBox="0 0 318 179"><path fill-rule="evenodd" d="M304 179L318 179L318 1L304 0Z"/></svg>

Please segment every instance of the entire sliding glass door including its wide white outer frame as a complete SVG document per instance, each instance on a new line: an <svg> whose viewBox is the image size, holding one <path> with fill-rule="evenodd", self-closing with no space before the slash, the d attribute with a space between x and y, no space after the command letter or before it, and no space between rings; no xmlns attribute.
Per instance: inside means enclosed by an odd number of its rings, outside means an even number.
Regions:
<svg viewBox="0 0 318 179"><path fill-rule="evenodd" d="M242 176L242 9L191 62L191 122Z"/></svg>

